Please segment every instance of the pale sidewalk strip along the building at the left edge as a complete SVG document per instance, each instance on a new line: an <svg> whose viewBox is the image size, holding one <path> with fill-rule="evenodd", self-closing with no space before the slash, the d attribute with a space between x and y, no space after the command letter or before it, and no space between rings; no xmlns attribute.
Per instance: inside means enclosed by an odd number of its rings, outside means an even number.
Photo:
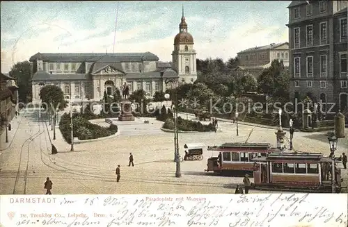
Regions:
<svg viewBox="0 0 348 227"><path fill-rule="evenodd" d="M3 126L3 131L0 135L0 151L7 150L10 145L13 142L13 139L15 138L15 135L17 133L17 130L19 128L19 124L22 121L23 115L25 114L24 110L19 112L19 116L13 117L11 121L8 122L8 124L11 124L11 131L7 131L8 134L8 142L6 142L6 128Z"/></svg>

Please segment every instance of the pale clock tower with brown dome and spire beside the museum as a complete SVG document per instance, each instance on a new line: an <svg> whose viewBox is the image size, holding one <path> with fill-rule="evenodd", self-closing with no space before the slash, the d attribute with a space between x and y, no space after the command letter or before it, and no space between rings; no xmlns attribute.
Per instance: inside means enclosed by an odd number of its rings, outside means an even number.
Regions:
<svg viewBox="0 0 348 227"><path fill-rule="evenodd" d="M177 71L180 83L193 83L197 79L196 51L193 49L193 37L187 32L187 23L182 6L179 33L174 38L173 68Z"/></svg>

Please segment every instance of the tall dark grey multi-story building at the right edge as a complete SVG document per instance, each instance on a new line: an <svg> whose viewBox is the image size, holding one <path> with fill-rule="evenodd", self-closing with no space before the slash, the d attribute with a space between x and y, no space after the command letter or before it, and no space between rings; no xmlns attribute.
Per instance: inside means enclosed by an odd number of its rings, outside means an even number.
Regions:
<svg viewBox="0 0 348 227"><path fill-rule="evenodd" d="M335 110L347 108L347 2L292 1L288 6L291 99L310 94L335 103Z"/></svg>

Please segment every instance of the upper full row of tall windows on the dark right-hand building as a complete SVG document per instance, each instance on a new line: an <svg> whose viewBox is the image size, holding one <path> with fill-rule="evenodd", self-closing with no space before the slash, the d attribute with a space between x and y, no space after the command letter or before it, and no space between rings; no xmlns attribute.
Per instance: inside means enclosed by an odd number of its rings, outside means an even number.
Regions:
<svg viewBox="0 0 348 227"><path fill-rule="evenodd" d="M320 44L327 44L327 22L321 22L319 24L319 40ZM340 42L347 38L347 18L340 19ZM294 28L294 49L300 48L301 42L301 30L300 28ZM306 47L313 46L313 24L306 26Z"/></svg>

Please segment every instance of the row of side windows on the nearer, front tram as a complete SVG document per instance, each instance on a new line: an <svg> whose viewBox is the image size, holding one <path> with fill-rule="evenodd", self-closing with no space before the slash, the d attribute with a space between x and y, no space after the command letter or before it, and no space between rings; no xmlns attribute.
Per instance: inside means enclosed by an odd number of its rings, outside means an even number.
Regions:
<svg viewBox="0 0 348 227"><path fill-rule="evenodd" d="M271 166L276 174L319 174L318 164L272 163Z"/></svg>

